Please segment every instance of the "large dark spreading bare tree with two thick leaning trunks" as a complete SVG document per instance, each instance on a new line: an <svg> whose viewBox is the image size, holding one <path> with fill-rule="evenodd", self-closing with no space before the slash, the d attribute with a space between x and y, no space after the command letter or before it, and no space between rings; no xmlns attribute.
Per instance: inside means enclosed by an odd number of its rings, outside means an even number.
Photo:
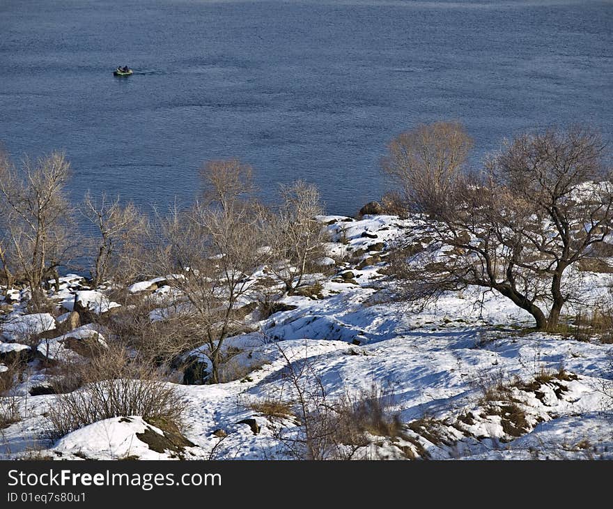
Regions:
<svg viewBox="0 0 613 509"><path fill-rule="evenodd" d="M396 266L407 294L493 289L529 312L536 328L553 330L577 292L568 268L598 257L610 234L608 178L591 130L518 137L486 172L458 178L443 207L421 203L434 241Z"/></svg>

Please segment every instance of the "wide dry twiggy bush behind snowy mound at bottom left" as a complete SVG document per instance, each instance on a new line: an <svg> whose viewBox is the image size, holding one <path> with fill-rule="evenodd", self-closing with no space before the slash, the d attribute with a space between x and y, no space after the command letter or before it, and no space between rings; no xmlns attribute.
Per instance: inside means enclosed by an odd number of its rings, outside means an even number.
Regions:
<svg viewBox="0 0 613 509"><path fill-rule="evenodd" d="M83 388L56 397L49 409L49 436L57 439L88 424L118 416L164 418L181 426L185 406L176 389L151 365L111 347L82 370Z"/></svg>

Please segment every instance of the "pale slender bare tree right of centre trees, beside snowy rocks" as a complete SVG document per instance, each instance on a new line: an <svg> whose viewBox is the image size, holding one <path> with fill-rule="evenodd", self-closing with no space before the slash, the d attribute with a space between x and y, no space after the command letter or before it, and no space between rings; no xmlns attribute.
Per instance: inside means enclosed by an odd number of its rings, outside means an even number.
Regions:
<svg viewBox="0 0 613 509"><path fill-rule="evenodd" d="M281 186L281 206L267 217L266 242L270 267L291 292L302 284L313 261L323 256L325 232L317 215L323 214L315 185L296 181Z"/></svg>

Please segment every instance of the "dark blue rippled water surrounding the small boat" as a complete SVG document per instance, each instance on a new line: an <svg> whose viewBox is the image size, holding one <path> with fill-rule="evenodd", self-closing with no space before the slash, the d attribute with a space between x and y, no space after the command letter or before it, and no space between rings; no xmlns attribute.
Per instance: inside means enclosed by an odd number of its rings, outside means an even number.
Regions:
<svg viewBox="0 0 613 509"><path fill-rule="evenodd" d="M64 149L74 199L185 202L203 161L238 156L267 199L306 178L352 214L421 121L463 121L473 162L550 123L611 139L612 29L585 1L0 0L0 141Z"/></svg>

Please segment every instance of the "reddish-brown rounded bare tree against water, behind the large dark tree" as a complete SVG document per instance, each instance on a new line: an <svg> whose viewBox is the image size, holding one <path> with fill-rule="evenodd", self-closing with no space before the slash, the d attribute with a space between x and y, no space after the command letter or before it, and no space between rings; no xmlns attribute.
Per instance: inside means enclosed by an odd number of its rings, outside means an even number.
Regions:
<svg viewBox="0 0 613 509"><path fill-rule="evenodd" d="M432 208L460 176L470 149L462 124L421 124L394 138L381 164L411 210Z"/></svg>

